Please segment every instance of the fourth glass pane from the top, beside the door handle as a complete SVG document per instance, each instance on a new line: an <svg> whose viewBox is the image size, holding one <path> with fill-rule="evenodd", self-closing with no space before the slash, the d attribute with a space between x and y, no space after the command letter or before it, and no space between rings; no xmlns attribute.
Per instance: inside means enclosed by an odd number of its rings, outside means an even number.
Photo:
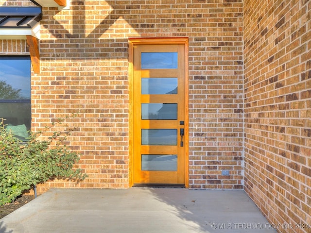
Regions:
<svg viewBox="0 0 311 233"><path fill-rule="evenodd" d="M141 145L177 145L177 130L142 129Z"/></svg>

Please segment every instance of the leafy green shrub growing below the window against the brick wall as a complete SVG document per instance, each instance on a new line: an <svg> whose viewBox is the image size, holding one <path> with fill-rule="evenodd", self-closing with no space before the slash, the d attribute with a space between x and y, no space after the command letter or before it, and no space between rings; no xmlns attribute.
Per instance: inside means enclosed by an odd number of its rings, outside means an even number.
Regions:
<svg viewBox="0 0 311 233"><path fill-rule="evenodd" d="M77 181L86 178L81 169L72 169L79 155L60 143L66 136L61 138L61 133L55 132L47 140L38 140L44 132L29 133L28 140L22 142L12 130L5 128L3 119L0 120L0 205L52 178ZM50 149L53 140L58 143Z"/></svg>

